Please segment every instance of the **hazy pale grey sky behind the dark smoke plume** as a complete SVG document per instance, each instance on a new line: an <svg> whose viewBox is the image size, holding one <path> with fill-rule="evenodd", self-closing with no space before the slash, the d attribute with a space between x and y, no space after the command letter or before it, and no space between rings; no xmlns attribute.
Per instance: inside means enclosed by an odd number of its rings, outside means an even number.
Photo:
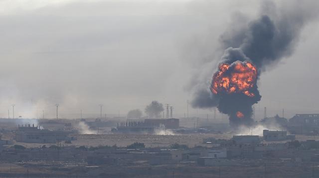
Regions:
<svg viewBox="0 0 319 178"><path fill-rule="evenodd" d="M191 78L209 82L215 70L224 50L220 35L235 17L255 18L260 4L1 0L0 7L0 117L7 117L13 103L22 117L40 117L45 110L53 118L56 103L62 117L79 117L80 109L98 116L99 104L108 115L124 116L152 100L171 104L183 117ZM262 73L257 116L265 106L269 115L281 114L282 108L289 117L319 113L318 30L318 21L311 21L293 55ZM190 113L196 116L197 110Z"/></svg>

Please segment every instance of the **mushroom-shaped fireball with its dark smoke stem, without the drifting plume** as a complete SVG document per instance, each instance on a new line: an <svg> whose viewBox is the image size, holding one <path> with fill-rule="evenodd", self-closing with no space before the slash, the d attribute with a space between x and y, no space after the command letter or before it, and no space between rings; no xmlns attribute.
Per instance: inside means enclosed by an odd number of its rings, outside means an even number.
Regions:
<svg viewBox="0 0 319 178"><path fill-rule="evenodd" d="M221 63L212 77L210 90L220 97L218 110L229 115L232 125L252 124L252 105L261 96L257 90L256 67L249 61Z"/></svg>

